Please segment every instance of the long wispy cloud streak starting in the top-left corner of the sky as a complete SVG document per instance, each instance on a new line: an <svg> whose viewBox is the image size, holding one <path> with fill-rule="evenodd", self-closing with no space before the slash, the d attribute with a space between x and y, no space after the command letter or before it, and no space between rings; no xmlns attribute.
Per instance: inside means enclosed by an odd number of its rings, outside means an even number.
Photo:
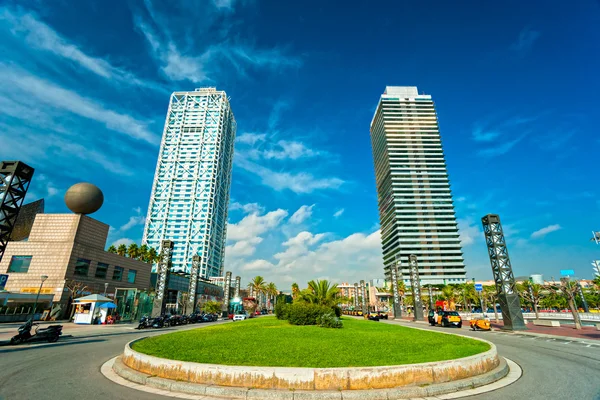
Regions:
<svg viewBox="0 0 600 400"><path fill-rule="evenodd" d="M33 14L5 7L0 9L0 21L10 27L13 35L23 37L28 46L52 53L109 81L164 90L157 83L139 79L131 72L115 67L102 58L86 54Z"/></svg>

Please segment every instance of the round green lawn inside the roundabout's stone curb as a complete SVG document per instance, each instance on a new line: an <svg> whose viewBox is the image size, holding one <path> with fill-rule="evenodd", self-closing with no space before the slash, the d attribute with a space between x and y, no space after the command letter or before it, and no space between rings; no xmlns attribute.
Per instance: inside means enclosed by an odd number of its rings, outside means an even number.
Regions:
<svg viewBox="0 0 600 400"><path fill-rule="evenodd" d="M415 364L489 349L463 337L351 317L343 321L343 329L326 329L259 317L156 336L133 348L181 361L315 368Z"/></svg>

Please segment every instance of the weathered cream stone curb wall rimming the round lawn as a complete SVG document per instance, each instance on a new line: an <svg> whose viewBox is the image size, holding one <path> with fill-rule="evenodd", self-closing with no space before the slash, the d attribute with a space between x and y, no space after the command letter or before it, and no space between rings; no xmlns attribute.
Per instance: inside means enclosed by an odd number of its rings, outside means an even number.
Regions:
<svg viewBox="0 0 600 400"><path fill-rule="evenodd" d="M283 368L201 364L139 353L131 348L135 341L125 346L122 362L152 377L209 386L317 391L387 389L453 382L496 369L500 365L496 346L486 340L474 340L487 343L490 349L456 360L383 367Z"/></svg>

